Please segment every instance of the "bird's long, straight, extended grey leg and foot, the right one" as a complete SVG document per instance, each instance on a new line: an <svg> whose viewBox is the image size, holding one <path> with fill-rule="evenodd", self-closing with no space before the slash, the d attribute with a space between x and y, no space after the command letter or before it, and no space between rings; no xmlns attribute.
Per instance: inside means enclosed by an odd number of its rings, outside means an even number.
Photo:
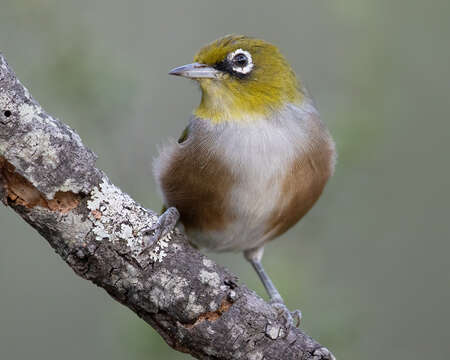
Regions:
<svg viewBox="0 0 450 360"><path fill-rule="evenodd" d="M286 316L287 320L291 324L293 324L295 320L296 326L298 326L300 325L300 321L302 319L302 313L300 310L294 310L291 313L291 311L289 311L289 309L284 304L283 298L281 297L277 288L275 287L269 275L267 275L266 271L264 270L264 267L262 266L261 259L263 253L264 247L260 247L256 249L246 250L244 252L244 256L250 262L250 264L252 264L253 268L255 269L256 273L261 279L261 282L263 283L267 293L269 294L271 304L275 308L280 310L280 312Z"/></svg>

